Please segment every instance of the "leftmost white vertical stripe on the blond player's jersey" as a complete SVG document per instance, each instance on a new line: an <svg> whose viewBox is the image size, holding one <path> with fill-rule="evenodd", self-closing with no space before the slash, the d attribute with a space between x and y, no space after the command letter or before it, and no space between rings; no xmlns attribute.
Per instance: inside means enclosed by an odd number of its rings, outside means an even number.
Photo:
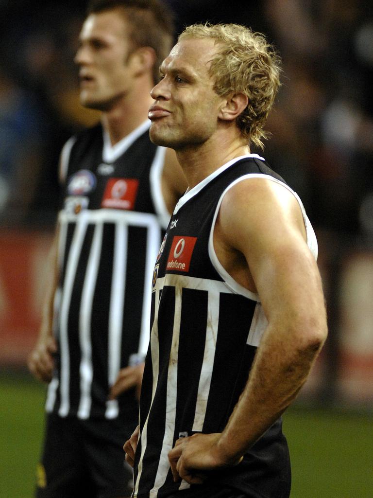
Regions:
<svg viewBox="0 0 373 498"><path fill-rule="evenodd" d="M163 278L158 279L157 281L157 288L154 291L155 292L155 311L154 311L154 322L153 322L153 327L152 327L152 333L150 335L150 345L151 345L151 352L152 352L152 367L153 367L153 387L152 387L152 401L150 404L149 412L146 417L146 420L144 422L144 427L141 431L141 434L139 435L139 438L141 439L141 455L139 459L139 464L137 467L137 479L135 482L135 487L134 487L134 496L137 495L139 492L139 482L141 478L141 473L142 473L142 463L143 463L143 458L144 458L144 453L146 449L146 444L147 444L147 430L148 430L148 421L149 421L149 414L152 409L153 405L153 400L155 396L155 392L157 389L157 384L158 384L158 374L159 374L159 340L158 340L158 309L159 309L159 294L160 294L160 288L163 287Z"/></svg>

